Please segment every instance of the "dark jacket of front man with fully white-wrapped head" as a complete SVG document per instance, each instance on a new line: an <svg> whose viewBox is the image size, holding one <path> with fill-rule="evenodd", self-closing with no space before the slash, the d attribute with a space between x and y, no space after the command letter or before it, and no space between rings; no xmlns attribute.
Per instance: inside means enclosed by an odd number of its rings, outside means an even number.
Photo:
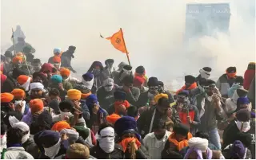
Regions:
<svg viewBox="0 0 256 160"><path fill-rule="evenodd" d="M99 144L90 148L90 155L98 159L123 159L124 153L122 151L122 146L114 144L114 150L110 154L107 154L99 147Z"/></svg>

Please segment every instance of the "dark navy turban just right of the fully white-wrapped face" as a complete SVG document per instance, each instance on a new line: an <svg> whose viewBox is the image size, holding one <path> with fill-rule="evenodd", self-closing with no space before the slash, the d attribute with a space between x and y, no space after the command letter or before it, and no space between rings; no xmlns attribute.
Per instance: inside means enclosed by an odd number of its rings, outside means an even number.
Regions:
<svg viewBox="0 0 256 160"><path fill-rule="evenodd" d="M119 137L126 132L137 133L137 122L134 117L123 116L114 123L114 131Z"/></svg>

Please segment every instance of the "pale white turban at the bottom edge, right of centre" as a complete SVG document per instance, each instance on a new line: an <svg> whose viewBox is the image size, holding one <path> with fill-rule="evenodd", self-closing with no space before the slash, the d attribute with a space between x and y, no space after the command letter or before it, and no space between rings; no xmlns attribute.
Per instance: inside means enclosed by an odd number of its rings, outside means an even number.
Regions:
<svg viewBox="0 0 256 160"><path fill-rule="evenodd" d="M189 146L190 148L194 148L197 150L201 150L202 152L206 152L208 148L208 140L207 139L202 139L199 137L193 137L189 140Z"/></svg>

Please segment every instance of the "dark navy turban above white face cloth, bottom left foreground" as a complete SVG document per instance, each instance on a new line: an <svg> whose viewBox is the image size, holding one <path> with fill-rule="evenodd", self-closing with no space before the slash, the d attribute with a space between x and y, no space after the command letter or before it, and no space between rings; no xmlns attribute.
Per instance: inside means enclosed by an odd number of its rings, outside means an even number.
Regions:
<svg viewBox="0 0 256 160"><path fill-rule="evenodd" d="M45 130L39 132L38 134L39 135L36 136L38 142L41 143L41 145L45 146L46 148L54 146L61 138L59 132L57 131Z"/></svg>

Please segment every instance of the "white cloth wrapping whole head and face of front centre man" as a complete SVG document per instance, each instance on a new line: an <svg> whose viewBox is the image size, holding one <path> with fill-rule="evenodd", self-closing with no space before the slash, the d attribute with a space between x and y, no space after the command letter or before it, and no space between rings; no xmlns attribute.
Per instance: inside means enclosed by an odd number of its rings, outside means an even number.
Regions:
<svg viewBox="0 0 256 160"><path fill-rule="evenodd" d="M111 153L114 150L114 128L106 127L100 131L98 142L102 150L108 154Z"/></svg>

